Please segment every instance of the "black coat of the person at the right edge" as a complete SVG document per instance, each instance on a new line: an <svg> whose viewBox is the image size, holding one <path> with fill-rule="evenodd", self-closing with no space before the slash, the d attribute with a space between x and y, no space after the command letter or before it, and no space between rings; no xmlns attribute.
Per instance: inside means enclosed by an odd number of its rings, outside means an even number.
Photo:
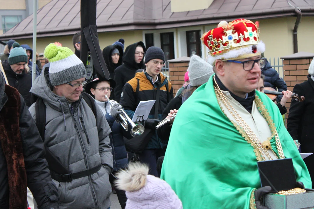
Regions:
<svg viewBox="0 0 314 209"><path fill-rule="evenodd" d="M310 75L307 78L307 81L296 84L293 88L293 92L299 96L304 96L305 100L300 103L294 99L291 100L287 130L294 140L297 139L300 142L301 152L314 152L314 81ZM314 186L314 155L305 158L304 162L310 172Z"/></svg>

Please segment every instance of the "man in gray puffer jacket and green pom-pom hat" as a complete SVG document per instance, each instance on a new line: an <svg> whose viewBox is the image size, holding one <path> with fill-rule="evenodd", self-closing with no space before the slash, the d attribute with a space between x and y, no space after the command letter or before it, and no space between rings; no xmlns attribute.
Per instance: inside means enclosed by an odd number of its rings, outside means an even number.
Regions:
<svg viewBox="0 0 314 209"><path fill-rule="evenodd" d="M44 53L50 62L49 72L47 68L31 88L46 106L44 144L71 175L83 173L70 181L51 171L60 195L59 208L107 209L113 170L110 127L98 105L94 115L81 96L86 83L82 61L69 48L54 44ZM36 119L35 103L29 110Z"/></svg>

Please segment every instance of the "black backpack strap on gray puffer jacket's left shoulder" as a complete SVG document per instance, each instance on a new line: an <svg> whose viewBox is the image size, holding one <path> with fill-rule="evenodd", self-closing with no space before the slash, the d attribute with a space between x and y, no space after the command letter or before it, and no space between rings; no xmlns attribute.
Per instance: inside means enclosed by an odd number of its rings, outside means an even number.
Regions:
<svg viewBox="0 0 314 209"><path fill-rule="evenodd" d="M46 128L46 105L42 98L38 98L35 103L36 112L36 126L41 135L41 139L45 141L45 128Z"/></svg>

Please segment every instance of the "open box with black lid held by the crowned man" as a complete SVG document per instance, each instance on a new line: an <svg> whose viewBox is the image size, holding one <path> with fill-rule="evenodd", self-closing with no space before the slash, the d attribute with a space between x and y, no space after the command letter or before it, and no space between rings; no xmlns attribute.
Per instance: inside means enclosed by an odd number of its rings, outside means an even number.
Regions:
<svg viewBox="0 0 314 209"><path fill-rule="evenodd" d="M298 187L292 159L261 161L257 163L261 185L271 186L272 191L264 195L264 205L271 209L314 208L314 190L305 193L279 195L277 191L287 191Z"/></svg>

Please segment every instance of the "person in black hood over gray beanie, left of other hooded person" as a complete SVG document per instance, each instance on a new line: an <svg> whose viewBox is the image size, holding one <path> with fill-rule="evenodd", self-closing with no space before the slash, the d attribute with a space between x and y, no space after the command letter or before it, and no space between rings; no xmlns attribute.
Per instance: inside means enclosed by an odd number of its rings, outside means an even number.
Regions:
<svg viewBox="0 0 314 209"><path fill-rule="evenodd" d="M104 48L102 55L105 59L110 78L113 79L114 70L122 65L123 50L119 45L110 45ZM111 91L109 99L115 100L114 89Z"/></svg>

